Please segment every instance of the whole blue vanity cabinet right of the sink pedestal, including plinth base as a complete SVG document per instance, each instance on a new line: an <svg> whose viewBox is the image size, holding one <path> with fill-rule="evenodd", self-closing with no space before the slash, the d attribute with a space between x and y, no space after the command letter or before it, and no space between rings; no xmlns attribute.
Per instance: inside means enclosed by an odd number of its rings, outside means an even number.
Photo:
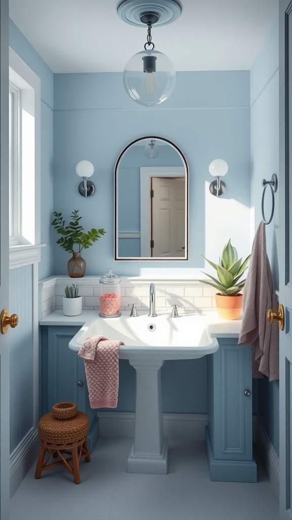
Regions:
<svg viewBox="0 0 292 520"><path fill-rule="evenodd" d="M257 482L253 458L251 347L218 338L207 356L206 449L211 480Z"/></svg>

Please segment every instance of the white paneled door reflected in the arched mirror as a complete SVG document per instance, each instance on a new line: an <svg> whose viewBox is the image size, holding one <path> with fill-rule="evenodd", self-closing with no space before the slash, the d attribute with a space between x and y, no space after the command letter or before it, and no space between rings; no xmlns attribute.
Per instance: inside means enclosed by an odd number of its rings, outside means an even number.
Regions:
<svg viewBox="0 0 292 520"><path fill-rule="evenodd" d="M152 255L185 255L185 180L152 177Z"/></svg>

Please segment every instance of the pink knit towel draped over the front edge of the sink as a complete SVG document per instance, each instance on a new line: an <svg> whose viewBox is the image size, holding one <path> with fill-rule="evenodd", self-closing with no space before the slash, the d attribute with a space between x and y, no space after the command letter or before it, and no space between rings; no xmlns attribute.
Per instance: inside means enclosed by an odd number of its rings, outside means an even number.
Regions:
<svg viewBox="0 0 292 520"><path fill-rule="evenodd" d="M78 352L84 359L91 408L116 408L118 395L118 347L122 341L92 336Z"/></svg>

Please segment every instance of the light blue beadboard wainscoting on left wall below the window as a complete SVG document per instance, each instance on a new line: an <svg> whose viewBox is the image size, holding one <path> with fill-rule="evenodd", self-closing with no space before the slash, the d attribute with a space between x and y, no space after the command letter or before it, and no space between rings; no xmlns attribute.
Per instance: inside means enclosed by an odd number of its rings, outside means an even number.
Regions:
<svg viewBox="0 0 292 520"><path fill-rule="evenodd" d="M38 452L38 260L9 269L9 310L19 317L9 331L10 352L10 496Z"/></svg>

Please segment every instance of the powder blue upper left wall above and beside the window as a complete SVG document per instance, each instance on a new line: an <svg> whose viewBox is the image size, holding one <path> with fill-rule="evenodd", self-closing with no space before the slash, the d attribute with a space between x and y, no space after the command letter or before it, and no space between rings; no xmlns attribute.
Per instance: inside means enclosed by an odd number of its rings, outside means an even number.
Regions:
<svg viewBox="0 0 292 520"><path fill-rule="evenodd" d="M49 219L53 207L53 105L54 74L44 60L9 20L9 45L41 79L41 242L39 279L53 274L52 236Z"/></svg>

